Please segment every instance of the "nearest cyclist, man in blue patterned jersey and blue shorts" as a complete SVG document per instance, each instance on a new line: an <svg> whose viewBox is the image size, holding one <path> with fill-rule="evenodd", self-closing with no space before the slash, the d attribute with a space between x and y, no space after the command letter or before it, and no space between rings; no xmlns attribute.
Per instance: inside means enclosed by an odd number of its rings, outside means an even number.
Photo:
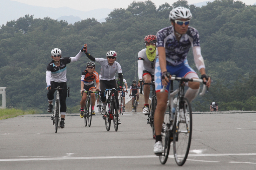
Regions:
<svg viewBox="0 0 256 170"><path fill-rule="evenodd" d="M156 59L155 66L157 106L154 116L156 132L154 152L156 155L163 152L161 130L168 99L169 78L174 74L177 77L189 79L199 78L196 72L188 65L187 54L190 46L192 46L195 65L202 75L201 79L204 81L207 79L198 31L193 27L189 27L191 18L192 14L189 9L176 7L171 10L169 15L171 26L159 30L156 35L159 52L159 58ZM166 91L161 93L160 90L165 85L167 85ZM191 102L199 92L200 83L189 82L186 85L189 88L185 97ZM210 87L210 77L206 86Z"/></svg>

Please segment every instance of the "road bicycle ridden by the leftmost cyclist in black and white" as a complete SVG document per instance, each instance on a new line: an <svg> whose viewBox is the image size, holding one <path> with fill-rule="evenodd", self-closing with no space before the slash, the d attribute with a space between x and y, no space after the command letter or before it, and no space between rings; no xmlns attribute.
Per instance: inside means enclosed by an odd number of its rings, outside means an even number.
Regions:
<svg viewBox="0 0 256 170"><path fill-rule="evenodd" d="M51 89L56 89L57 90L56 100L55 100L55 104L54 104L54 108L53 108L53 114L52 114L53 125L55 124L54 132L57 133L58 127L60 128L60 117L61 117L61 114L60 114L60 90L68 90L68 97L69 97L69 94L70 94L70 90L69 90L69 87L67 89L62 89L62 88L60 88L60 86L58 86L57 88L52 87ZM48 93L49 93L49 90L50 89L48 89Z"/></svg>

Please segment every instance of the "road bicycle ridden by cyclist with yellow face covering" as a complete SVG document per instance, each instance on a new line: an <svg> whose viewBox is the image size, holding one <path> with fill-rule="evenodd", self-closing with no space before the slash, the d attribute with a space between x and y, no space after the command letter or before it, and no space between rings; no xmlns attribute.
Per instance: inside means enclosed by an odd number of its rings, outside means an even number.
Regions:
<svg viewBox="0 0 256 170"><path fill-rule="evenodd" d="M140 82L142 83L142 82ZM156 138L156 133L155 133L155 126L154 126L154 115L155 115L155 110L156 110L156 90L155 90L155 82L154 80L151 83L143 83L143 85L151 85L152 86L152 94L151 94L151 103L149 107L148 113L145 115L148 115L148 124L150 124L150 127L152 128L152 135L153 138ZM140 86L140 94L142 94L142 86Z"/></svg>

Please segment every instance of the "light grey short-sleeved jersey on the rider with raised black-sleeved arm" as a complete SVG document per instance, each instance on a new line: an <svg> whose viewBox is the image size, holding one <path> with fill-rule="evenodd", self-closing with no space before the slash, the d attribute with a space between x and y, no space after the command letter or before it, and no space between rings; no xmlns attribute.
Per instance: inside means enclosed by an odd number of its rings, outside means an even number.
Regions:
<svg viewBox="0 0 256 170"><path fill-rule="evenodd" d="M108 59L104 58L95 58L95 62L101 65L100 80L114 80L116 72L122 73L122 68L116 61L111 66L108 64Z"/></svg>

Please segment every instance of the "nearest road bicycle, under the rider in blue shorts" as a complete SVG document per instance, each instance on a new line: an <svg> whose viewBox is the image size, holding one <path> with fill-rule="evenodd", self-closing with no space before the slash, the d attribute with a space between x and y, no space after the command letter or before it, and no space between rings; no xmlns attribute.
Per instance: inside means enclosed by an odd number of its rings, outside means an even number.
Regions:
<svg viewBox="0 0 256 170"><path fill-rule="evenodd" d="M204 95L207 88L206 82L203 82L202 79L186 79L172 76L170 80L171 91L173 91L174 80L179 81L179 86L178 89L170 93L169 101L167 102L169 113L166 114L167 119L165 118L161 132L164 152L159 155L159 160L161 164L166 163L170 151L170 143L173 142L175 162L182 166L187 160L192 136L192 110L188 99L184 97L185 83L189 81L203 83L203 90L200 96ZM164 86L161 92L164 92L165 89L166 87ZM177 104L175 108L172 108L176 94Z"/></svg>

